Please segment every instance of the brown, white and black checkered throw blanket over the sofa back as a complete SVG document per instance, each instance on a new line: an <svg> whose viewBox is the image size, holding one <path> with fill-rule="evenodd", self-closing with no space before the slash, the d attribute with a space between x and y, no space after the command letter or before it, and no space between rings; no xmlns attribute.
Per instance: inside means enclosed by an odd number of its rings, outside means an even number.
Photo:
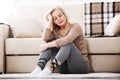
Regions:
<svg viewBox="0 0 120 80"><path fill-rule="evenodd" d="M104 35L110 20L120 13L120 2L85 3L85 35Z"/></svg>

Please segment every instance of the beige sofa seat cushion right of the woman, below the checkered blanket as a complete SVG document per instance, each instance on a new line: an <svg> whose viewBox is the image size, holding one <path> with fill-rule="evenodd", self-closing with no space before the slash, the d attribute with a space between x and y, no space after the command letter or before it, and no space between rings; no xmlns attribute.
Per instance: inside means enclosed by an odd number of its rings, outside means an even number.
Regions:
<svg viewBox="0 0 120 80"><path fill-rule="evenodd" d="M120 54L120 37L86 38L89 54Z"/></svg>

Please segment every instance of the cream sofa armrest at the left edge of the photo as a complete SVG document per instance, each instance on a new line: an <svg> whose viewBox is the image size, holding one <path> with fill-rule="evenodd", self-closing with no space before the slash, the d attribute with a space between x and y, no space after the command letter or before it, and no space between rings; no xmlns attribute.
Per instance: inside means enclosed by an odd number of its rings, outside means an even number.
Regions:
<svg viewBox="0 0 120 80"><path fill-rule="evenodd" d="M9 26L0 24L0 72L4 72L4 42L9 36Z"/></svg>

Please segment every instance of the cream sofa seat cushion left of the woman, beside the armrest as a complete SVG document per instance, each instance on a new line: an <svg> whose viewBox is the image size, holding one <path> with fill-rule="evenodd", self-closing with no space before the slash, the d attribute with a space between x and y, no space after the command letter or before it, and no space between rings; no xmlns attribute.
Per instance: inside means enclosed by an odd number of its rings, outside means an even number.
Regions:
<svg viewBox="0 0 120 80"><path fill-rule="evenodd" d="M7 55L39 54L41 38L8 38L5 41Z"/></svg>

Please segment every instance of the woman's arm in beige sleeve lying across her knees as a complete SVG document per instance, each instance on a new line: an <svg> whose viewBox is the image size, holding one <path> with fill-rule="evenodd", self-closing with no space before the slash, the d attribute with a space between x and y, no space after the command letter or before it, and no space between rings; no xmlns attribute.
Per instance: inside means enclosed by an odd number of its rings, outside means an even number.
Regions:
<svg viewBox="0 0 120 80"><path fill-rule="evenodd" d="M75 25L72 30L70 30L70 32L68 33L67 36L56 39L54 41L45 43L43 45L41 45L40 47L40 51L44 51L47 48L51 48L51 47L60 47L69 43L72 43L78 36L80 36L82 34L82 30L80 28L79 25Z"/></svg>

